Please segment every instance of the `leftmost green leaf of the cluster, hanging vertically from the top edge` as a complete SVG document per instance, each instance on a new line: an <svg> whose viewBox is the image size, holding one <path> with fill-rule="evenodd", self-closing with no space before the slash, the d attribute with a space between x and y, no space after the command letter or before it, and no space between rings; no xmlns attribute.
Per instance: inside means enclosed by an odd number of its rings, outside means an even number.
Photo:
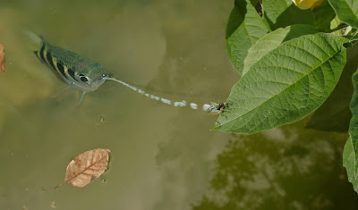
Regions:
<svg viewBox="0 0 358 210"><path fill-rule="evenodd" d="M226 46L234 69L242 73L247 50L268 32L250 1L235 1L226 28Z"/></svg>

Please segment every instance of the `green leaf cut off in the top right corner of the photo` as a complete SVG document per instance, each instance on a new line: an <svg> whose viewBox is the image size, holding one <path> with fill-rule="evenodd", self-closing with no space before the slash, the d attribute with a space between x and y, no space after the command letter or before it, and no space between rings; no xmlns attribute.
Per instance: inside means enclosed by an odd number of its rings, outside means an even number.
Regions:
<svg viewBox="0 0 358 210"><path fill-rule="evenodd" d="M338 19L354 28L358 28L358 1L356 0L329 0Z"/></svg>

